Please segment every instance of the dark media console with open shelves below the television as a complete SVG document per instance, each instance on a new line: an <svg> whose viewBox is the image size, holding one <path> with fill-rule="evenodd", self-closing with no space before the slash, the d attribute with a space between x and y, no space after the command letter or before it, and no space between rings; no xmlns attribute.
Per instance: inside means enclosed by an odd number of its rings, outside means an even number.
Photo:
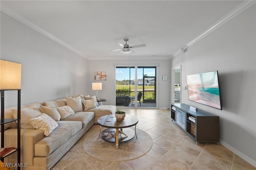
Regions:
<svg viewBox="0 0 256 170"><path fill-rule="evenodd" d="M196 143L219 144L219 116L203 110L190 109L187 104L171 104L171 120L182 128Z"/></svg>

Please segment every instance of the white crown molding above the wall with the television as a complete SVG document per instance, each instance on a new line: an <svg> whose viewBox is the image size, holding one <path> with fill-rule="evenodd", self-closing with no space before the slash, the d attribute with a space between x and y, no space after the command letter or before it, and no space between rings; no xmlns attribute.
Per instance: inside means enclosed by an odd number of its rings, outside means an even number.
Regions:
<svg viewBox="0 0 256 170"><path fill-rule="evenodd" d="M197 41L199 41L200 39L202 39L203 37L205 37L206 35L208 35L212 31L214 31L215 29L217 29L218 27L220 27L221 25L223 25L227 21L234 18L236 15L240 14L242 11L246 10L247 8L249 8L250 6L255 4L255 2L256 2L255 0L245 0L244 2L242 2L242 4L240 4L239 6L234 8L234 10L230 11L228 14L226 14L226 16L224 16L223 18L218 20L216 23L214 23L212 26L210 26L208 29L206 29L206 31L204 31L203 33L198 35L196 38L194 38L192 41L190 41L186 45L187 46L193 45L194 43L196 43ZM177 55L177 53L175 53L174 56L175 55Z"/></svg>

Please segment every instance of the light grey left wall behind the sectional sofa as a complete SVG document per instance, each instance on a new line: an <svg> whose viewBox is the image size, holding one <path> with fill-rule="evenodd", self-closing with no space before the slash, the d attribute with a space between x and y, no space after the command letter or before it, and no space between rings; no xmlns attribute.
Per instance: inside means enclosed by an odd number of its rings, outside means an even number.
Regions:
<svg viewBox="0 0 256 170"><path fill-rule="evenodd" d="M88 61L1 12L1 59L22 64L21 103L87 93ZM17 106L5 92L5 107Z"/></svg>

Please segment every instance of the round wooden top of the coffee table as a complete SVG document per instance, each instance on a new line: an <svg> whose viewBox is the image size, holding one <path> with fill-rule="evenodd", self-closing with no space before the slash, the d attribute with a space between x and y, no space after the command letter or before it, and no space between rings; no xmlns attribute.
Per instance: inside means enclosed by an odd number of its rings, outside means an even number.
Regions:
<svg viewBox="0 0 256 170"><path fill-rule="evenodd" d="M125 115L124 120L118 121L116 120L116 117L110 117L113 115L105 115L98 119L98 124L103 127L108 128L126 128L126 127L132 127L138 123L137 117L133 115ZM107 121L110 120L110 121Z"/></svg>

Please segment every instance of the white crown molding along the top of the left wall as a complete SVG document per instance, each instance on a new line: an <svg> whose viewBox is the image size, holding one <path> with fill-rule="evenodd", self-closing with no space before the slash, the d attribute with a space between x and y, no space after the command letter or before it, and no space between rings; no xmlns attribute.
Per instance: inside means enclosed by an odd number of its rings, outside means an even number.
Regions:
<svg viewBox="0 0 256 170"><path fill-rule="evenodd" d="M21 16L20 14L17 14L16 12L13 12L12 10L10 10L9 8L7 8L6 6L1 4L1 11L4 12L5 14L11 16L12 18L24 23L25 25L31 27L32 29L38 31L39 33L42 33L43 35L45 35L46 37L49 37L50 39L56 41L57 43L63 45L64 47L70 49L71 51L74 51L76 54L87 58L86 56L84 56L82 53L80 53L79 51L73 49L72 47L70 47L70 45L64 43L63 41L61 41L60 39L58 39L57 37L55 37L54 35L52 35L51 33L49 33L48 31L38 27L36 24L34 24L32 21L28 20L27 18L25 18L24 16Z"/></svg>

